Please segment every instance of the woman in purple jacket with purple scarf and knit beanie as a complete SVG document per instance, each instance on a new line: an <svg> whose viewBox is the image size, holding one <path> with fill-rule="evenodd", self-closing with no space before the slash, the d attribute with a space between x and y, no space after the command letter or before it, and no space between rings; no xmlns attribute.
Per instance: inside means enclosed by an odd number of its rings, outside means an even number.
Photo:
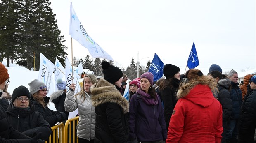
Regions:
<svg viewBox="0 0 256 143"><path fill-rule="evenodd" d="M140 76L140 88L130 100L129 138L131 143L164 143L167 137L164 111L153 85L153 74Z"/></svg>

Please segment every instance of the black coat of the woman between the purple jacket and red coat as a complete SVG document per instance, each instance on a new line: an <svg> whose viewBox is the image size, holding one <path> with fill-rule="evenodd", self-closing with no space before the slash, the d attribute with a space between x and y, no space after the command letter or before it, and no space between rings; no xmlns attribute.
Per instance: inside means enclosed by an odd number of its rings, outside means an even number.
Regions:
<svg viewBox="0 0 256 143"><path fill-rule="evenodd" d="M173 114L173 109L178 101L177 99L177 91L179 88L180 80L177 78L173 78L171 81L171 88L168 86L167 88L164 88L163 90L160 90L161 99L164 103L164 119L166 122L166 131L168 131L171 115ZM159 92L159 90L158 90Z"/></svg>

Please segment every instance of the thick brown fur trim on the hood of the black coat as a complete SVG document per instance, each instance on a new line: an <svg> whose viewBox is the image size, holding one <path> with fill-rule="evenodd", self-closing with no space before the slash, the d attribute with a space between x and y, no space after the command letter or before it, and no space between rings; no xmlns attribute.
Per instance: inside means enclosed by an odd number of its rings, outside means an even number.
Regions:
<svg viewBox="0 0 256 143"><path fill-rule="evenodd" d="M129 112L129 102L116 89L115 85L104 79L100 79L97 83L91 86L92 105L99 106L107 102L116 103L123 108L123 113Z"/></svg>

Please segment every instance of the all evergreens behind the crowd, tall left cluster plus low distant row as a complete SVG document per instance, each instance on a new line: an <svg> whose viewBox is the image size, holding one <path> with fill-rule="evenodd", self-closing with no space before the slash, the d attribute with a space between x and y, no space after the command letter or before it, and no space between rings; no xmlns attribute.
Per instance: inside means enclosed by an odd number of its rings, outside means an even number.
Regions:
<svg viewBox="0 0 256 143"><path fill-rule="evenodd" d="M49 0L0 0L0 61L7 60L7 66L16 62L28 69L39 70L40 53L50 61L58 58L65 65L64 36L60 35L55 14ZM34 61L35 60L35 61ZM104 60L102 60L104 61ZM90 69L96 76L103 76L100 58L73 58L73 65L82 62L84 69ZM114 65L113 61L108 61ZM148 71L139 64L139 75ZM131 59L128 67L119 67L132 80L137 78L137 62Z"/></svg>

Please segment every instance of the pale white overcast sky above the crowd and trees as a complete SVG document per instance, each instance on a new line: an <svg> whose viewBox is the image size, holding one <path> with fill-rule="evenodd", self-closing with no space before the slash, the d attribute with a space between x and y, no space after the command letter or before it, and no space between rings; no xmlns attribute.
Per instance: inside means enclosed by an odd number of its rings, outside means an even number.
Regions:
<svg viewBox="0 0 256 143"><path fill-rule="evenodd" d="M71 1L50 2L71 61ZM223 72L256 69L255 0L73 0L72 5L83 28L120 68L132 58L137 62L138 53L146 65L156 53L184 72L194 42L203 72L213 63ZM73 56L86 55L73 40Z"/></svg>

